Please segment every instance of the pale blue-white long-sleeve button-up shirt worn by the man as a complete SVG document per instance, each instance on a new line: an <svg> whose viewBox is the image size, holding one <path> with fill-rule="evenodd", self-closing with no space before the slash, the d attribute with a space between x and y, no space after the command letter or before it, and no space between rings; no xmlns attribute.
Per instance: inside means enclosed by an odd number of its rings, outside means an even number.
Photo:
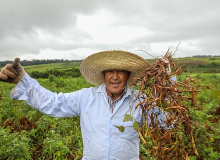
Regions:
<svg viewBox="0 0 220 160"><path fill-rule="evenodd" d="M126 114L142 122L141 108L134 110L139 103L137 94L138 91L127 87L112 112L105 84L57 94L43 88L25 73L9 96L25 100L31 107L52 117L80 116L83 160L138 160L138 132L132 127L132 121L123 122ZM120 132L115 126L126 128Z"/></svg>

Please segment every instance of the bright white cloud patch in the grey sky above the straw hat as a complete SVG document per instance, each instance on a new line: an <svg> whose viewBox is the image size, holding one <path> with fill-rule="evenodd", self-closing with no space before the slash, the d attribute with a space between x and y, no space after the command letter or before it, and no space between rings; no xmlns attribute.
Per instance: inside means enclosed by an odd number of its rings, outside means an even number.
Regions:
<svg viewBox="0 0 220 160"><path fill-rule="evenodd" d="M139 26L114 26L116 18L105 10L94 15L78 15L77 27L89 33L93 43L123 44L152 32Z"/></svg>

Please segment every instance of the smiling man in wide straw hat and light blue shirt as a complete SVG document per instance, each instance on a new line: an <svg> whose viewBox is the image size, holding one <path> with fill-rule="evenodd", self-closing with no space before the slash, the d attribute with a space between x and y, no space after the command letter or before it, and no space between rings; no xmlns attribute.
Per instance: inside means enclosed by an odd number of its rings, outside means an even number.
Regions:
<svg viewBox="0 0 220 160"><path fill-rule="evenodd" d="M53 117L80 116L83 160L139 159L138 132L132 122L123 122L126 114L141 123L142 111L134 109L138 91L129 86L150 64L125 51L104 51L87 57L80 66L83 77L97 87L72 93L53 93L32 79L15 59L0 72L3 81L17 83L10 91L13 99ZM120 132L115 126L126 127Z"/></svg>

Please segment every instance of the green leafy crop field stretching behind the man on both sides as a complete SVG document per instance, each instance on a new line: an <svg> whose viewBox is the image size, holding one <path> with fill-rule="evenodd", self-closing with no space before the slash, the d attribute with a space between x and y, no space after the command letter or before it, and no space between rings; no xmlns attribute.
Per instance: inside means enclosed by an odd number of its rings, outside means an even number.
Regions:
<svg viewBox="0 0 220 160"><path fill-rule="evenodd" d="M186 64L186 62L198 64L201 61L203 65L210 65L212 62L220 63L219 59L189 59L174 60L178 64ZM150 61L154 63L155 60ZM59 70L79 68L79 65L79 62L54 63L24 68L31 73L55 68ZM200 92L197 93L198 108L195 111L194 108L190 108L192 122L198 127L195 143L200 157L197 158L191 154L189 159L218 160L220 159L220 74L200 72L198 65L193 66L197 70L187 67L193 71L190 76L197 77L200 82ZM208 69L212 69L212 66L208 66ZM181 76L177 76L179 81L189 76L187 72L182 73ZM73 92L93 86L82 77L51 75L49 78L36 80L45 88L57 93ZM14 84L0 82L0 159L81 159L83 144L79 117L49 117L23 101L12 100L8 93L14 86ZM141 160L155 159L150 154L152 140L150 138L147 140L146 144L141 141Z"/></svg>

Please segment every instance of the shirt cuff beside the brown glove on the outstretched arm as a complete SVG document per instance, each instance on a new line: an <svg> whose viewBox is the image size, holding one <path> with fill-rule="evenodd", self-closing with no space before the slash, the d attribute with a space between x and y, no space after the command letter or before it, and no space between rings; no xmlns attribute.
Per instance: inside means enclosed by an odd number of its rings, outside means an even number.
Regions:
<svg viewBox="0 0 220 160"><path fill-rule="evenodd" d="M25 72L24 76L21 78L21 80L17 83L17 85L9 92L9 97L12 99L19 99L21 95L24 94L27 87L29 86L31 82L31 77Z"/></svg>

